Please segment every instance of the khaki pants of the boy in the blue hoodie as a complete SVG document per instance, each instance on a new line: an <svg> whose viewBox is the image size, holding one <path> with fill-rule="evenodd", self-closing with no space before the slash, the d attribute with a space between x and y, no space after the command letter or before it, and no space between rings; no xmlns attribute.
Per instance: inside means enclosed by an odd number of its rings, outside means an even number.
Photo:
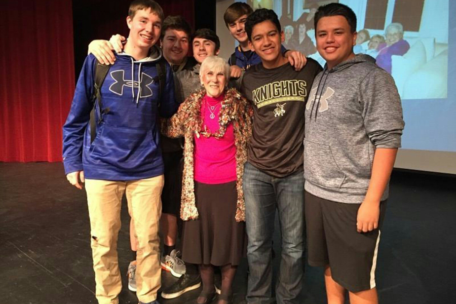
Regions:
<svg viewBox="0 0 456 304"><path fill-rule="evenodd" d="M163 175L132 181L86 179L96 297L100 304L119 303L122 282L117 240L124 193L138 238L136 295L141 302L157 299L157 291L161 286L158 231L162 188Z"/></svg>

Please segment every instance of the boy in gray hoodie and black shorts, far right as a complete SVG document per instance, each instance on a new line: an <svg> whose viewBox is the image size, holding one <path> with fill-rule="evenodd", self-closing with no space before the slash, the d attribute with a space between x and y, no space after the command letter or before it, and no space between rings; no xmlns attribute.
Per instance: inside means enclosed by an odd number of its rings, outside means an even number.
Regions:
<svg viewBox="0 0 456 304"><path fill-rule="evenodd" d="M326 65L306 106L305 177L309 264L325 267L328 303L377 303L375 268L388 182L401 144L394 80L355 55L356 16L341 4L315 15Z"/></svg>

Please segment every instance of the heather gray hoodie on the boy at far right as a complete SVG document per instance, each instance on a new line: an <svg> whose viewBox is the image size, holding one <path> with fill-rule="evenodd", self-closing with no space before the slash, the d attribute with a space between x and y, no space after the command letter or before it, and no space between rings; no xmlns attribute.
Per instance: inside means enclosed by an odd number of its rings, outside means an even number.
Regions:
<svg viewBox="0 0 456 304"><path fill-rule="evenodd" d="M390 74L368 55L320 72L306 105L304 168L309 193L363 202L375 148L398 148L402 106ZM382 200L388 198L388 186Z"/></svg>

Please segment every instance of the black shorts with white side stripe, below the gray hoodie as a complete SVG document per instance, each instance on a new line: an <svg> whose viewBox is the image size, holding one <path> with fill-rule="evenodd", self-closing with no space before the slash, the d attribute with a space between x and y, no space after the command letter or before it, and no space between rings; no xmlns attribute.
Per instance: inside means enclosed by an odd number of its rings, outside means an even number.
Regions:
<svg viewBox="0 0 456 304"><path fill-rule="evenodd" d="M329 265L332 279L351 292L375 287L380 230L386 200L380 204L378 229L356 231L360 204L346 204L305 194L308 261L311 266Z"/></svg>

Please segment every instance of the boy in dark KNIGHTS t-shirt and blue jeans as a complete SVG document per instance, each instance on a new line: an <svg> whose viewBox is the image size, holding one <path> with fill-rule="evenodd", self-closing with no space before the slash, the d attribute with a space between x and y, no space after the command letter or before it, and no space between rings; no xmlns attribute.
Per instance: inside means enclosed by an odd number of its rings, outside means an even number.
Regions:
<svg viewBox="0 0 456 304"><path fill-rule="evenodd" d="M309 90L322 69L313 59L296 71L281 51L284 33L273 10L259 9L245 22L261 63L248 69L241 91L253 104L253 131L244 169L249 303L272 299L272 238L276 208L282 255L277 303L299 303L305 250L303 146Z"/></svg>

